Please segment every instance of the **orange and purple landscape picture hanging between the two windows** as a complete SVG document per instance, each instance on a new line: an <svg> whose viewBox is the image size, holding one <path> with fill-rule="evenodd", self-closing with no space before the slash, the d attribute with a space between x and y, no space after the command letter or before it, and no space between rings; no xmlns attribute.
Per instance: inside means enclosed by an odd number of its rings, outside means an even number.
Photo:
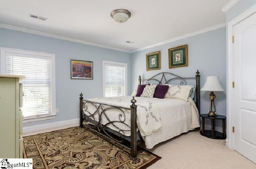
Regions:
<svg viewBox="0 0 256 169"><path fill-rule="evenodd" d="M92 62L71 60L71 79L92 79Z"/></svg>

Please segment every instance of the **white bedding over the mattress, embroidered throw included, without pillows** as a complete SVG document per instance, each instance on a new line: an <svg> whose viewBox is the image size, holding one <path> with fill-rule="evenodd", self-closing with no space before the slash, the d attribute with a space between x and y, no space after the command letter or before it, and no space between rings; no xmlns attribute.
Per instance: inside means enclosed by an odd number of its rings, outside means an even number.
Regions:
<svg viewBox="0 0 256 169"><path fill-rule="evenodd" d="M112 98L91 98L94 102L124 106L130 108L132 96ZM137 126L146 148L151 149L154 145L169 140L189 130L200 127L199 114L194 101L189 98L187 102L175 98L146 98L135 97L137 102ZM108 116L114 113L108 113ZM130 110L125 111L125 123L130 126ZM114 115L118 119L117 115ZM107 121L102 121L106 124ZM115 124L121 128L124 125ZM111 128L111 127L110 127ZM113 130L118 131L116 128ZM130 132L124 132L126 136Z"/></svg>

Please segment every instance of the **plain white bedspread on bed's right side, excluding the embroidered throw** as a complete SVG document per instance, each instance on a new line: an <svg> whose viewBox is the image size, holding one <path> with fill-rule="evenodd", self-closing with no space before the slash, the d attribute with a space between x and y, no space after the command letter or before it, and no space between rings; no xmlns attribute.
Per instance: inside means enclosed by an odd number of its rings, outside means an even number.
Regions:
<svg viewBox="0 0 256 169"><path fill-rule="evenodd" d="M182 133L200 127L199 113L192 99L187 102L180 99L164 98L158 102L159 113L162 119L162 129L143 137L146 148L169 140Z"/></svg>

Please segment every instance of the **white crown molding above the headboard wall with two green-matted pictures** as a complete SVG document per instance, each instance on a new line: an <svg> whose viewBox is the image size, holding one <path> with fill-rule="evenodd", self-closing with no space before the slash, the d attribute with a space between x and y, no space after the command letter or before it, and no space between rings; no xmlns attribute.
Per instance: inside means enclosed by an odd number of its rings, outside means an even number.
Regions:
<svg viewBox="0 0 256 169"><path fill-rule="evenodd" d="M180 40L180 39L185 39L185 38L188 38L188 37L192 37L192 36L195 36L195 35L199 35L199 34L201 34L201 33L205 33L205 32L208 32L208 31L215 30L215 29L223 28L223 27L225 27L225 26L226 26L226 23L218 24L218 25L215 25L215 26L206 28L206 29L202 29L202 30L199 30L199 31L195 31L195 32L193 32L193 33L188 33L188 34L185 34L185 35L182 35L182 36L174 37L174 38L172 38L172 39L169 39L169 40L167 40L167 41L163 41L163 42L161 42L161 43L157 43L157 44L155 44L155 45L150 45L150 46L148 46L148 47L144 47L144 48L141 48L141 49L136 49L136 50L132 51L132 53L137 52L137 51L142 51L142 50L145 50L145 49L150 49L150 48L152 48L152 47L164 45L164 44L166 44L166 43L174 42L174 41L177 41L177 40Z"/></svg>

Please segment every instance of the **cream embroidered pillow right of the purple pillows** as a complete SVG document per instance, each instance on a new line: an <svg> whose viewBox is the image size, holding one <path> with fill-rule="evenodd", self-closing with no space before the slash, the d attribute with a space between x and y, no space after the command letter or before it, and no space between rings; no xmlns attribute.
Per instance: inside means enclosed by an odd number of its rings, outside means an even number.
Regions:
<svg viewBox="0 0 256 169"><path fill-rule="evenodd" d="M188 85L168 85L168 91L165 94L165 98L179 98L187 101L192 86Z"/></svg>

